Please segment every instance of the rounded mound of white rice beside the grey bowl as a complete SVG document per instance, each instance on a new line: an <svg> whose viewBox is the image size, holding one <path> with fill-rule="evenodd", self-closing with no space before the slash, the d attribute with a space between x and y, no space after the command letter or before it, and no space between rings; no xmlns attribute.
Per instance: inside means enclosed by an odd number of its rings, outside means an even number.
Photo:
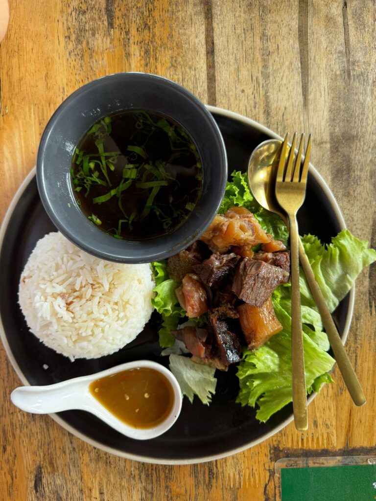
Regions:
<svg viewBox="0 0 376 501"><path fill-rule="evenodd" d="M98 358L142 331L154 287L149 264L103 261L54 232L38 241L26 263L19 302L46 346L71 360Z"/></svg>

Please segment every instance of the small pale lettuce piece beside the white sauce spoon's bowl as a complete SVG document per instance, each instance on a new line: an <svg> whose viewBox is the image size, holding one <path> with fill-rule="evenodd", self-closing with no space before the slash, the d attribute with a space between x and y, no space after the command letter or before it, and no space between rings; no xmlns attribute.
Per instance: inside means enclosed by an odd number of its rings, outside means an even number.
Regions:
<svg viewBox="0 0 376 501"><path fill-rule="evenodd" d="M169 367L179 383L181 393L186 395L191 403L197 395L203 404L209 405L217 385L214 367L197 364L192 362L190 357L174 354L169 356Z"/></svg>

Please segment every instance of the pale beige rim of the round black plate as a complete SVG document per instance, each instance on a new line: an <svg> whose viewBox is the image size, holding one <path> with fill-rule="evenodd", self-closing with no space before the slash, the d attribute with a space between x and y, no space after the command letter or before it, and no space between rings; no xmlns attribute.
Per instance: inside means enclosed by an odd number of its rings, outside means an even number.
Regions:
<svg viewBox="0 0 376 501"><path fill-rule="evenodd" d="M235 113L233 111L226 110L224 108L219 108L216 106L207 105L207 108L211 113L215 113L217 115L222 115L224 117L227 117L227 118L233 119L235 121L244 123L245 125L250 125L250 126L254 127L255 129L259 130L260 132L266 134L267 136L270 136L270 138L272 138L272 139L283 140L283 138L281 136L279 136L278 134L273 132L271 129L265 127L264 125L256 122L255 120L252 120L251 118L248 118L244 115L241 115L239 113ZM336 199L334 198L334 195L331 192L329 186L326 184L326 182L323 179L323 177L321 176L321 174L319 174L319 172L316 170L316 168L311 163L309 164L309 168L310 168L310 172L312 173L313 177L320 185L320 188L324 191L325 195L327 196L327 198L330 202L330 205L332 206L332 208L335 212L335 215L337 217L337 220L339 222L341 229L346 228L346 224L345 224L342 212L341 212L339 205L338 205ZM16 193L15 193L15 195L14 195L14 197L13 197L13 199L12 199L12 201L11 201L11 203L10 203L6 213L5 213L2 225L0 227L0 250L3 247L4 236L5 236L5 233L7 231L8 224L9 224L9 221L12 217L14 209L17 206L25 189L27 188L27 186L30 184L30 182L32 181L32 179L35 176L36 176L36 167L34 166L32 168L32 170L27 174L25 179L22 181L20 187L16 191ZM349 291L348 312L346 315L346 321L345 321L345 325L343 328L343 334L341 337L342 344L345 344L347 336L348 336L348 332L350 329L353 310L354 310L354 301L355 301L355 286L352 286L352 288ZM11 362L14 370L16 371L18 377L20 378L20 380L22 381L22 383L25 386L30 386L30 383L26 379L26 376L24 375L24 373L21 371L21 369L18 365L18 362L17 362L16 358L14 357L13 352L9 346L9 343L8 343L8 340L7 340L7 337L5 334L5 329L3 326L1 314L0 314L0 339L3 343L7 357L9 359L9 361ZM307 403L309 404L313 400L313 398L315 398L316 395L317 395L317 393L312 393L308 397ZM56 421L65 430L69 431L77 438L79 438L79 439L83 440L84 442L89 443L90 445L97 447L105 452L114 454L114 455L119 456L119 457L123 457L125 459L131 459L134 461L146 462L146 463L151 463L151 464L170 464L170 465L197 464L197 463L202 463L202 462L207 462L207 461L214 461L216 459L222 459L224 457L228 457L228 456L237 454L239 452L242 452L246 449L249 449L249 448L263 442L264 440L267 440L268 438L272 437L278 431L285 428L293 420L293 415L291 415L288 418L286 418L284 421L282 421L278 426L276 426L275 428L273 428L272 430L270 430L266 434L260 436L259 438L251 440L250 442L247 442L246 444L243 444L240 447L236 447L234 449L228 450L228 451L220 453L220 454L213 454L213 455L202 456L202 457L198 457L198 458L189 458L189 459L165 459L165 458L148 457L148 456L142 456L142 455L139 456L136 454L131 454L128 452L120 451L118 449L115 449L114 447L106 446L103 443L98 442L96 440L93 440L91 437L88 437L84 433L81 433L80 431L76 430L73 426L71 426L66 421L64 421L56 413L49 414L49 416L52 417L52 419L54 419L54 421Z"/></svg>

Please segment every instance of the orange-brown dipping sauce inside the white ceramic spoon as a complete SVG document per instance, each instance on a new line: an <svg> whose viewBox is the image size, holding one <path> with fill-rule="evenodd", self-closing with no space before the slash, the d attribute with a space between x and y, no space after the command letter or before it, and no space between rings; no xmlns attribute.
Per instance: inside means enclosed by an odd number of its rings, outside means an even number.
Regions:
<svg viewBox="0 0 376 501"><path fill-rule="evenodd" d="M174 393L159 371L141 367L121 371L90 383L90 393L133 428L153 428L171 412Z"/></svg>

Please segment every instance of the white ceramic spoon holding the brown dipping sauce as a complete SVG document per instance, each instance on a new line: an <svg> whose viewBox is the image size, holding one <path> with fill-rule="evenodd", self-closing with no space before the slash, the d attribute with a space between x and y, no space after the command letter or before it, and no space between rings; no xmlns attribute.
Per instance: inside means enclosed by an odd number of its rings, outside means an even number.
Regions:
<svg viewBox="0 0 376 501"><path fill-rule="evenodd" d="M116 374L117 372L135 368L154 369L162 373L171 383L174 402L166 419L153 428L133 428L111 414L89 391L89 385L95 379ZM154 438L170 428L181 410L181 391L175 376L165 367L149 360L137 360L117 365L89 376L68 379L48 386L20 386L11 394L12 402L20 409L34 414L49 414L63 410L80 409L91 412L119 431L123 435L138 440Z"/></svg>

